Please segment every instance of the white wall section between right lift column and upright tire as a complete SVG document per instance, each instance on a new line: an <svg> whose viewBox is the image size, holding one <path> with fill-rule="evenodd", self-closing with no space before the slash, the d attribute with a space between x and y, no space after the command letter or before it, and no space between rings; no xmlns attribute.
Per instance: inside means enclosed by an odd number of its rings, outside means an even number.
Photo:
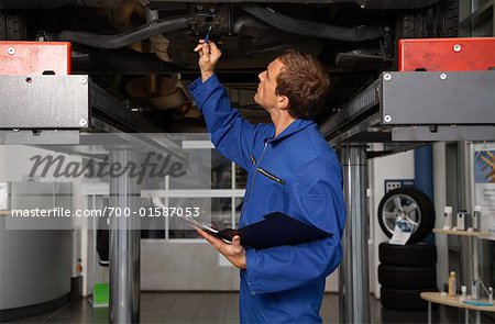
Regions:
<svg viewBox="0 0 495 324"><path fill-rule="evenodd" d="M376 148L381 144L375 144ZM380 298L378 245L388 241L378 224L378 204L385 194L384 180L414 179L414 150L373 158L369 161L370 179L370 291Z"/></svg>

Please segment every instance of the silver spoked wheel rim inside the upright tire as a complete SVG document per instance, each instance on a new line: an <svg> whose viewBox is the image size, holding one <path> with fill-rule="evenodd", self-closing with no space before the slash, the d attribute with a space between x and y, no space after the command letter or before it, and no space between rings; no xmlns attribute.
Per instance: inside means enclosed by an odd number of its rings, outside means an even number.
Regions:
<svg viewBox="0 0 495 324"><path fill-rule="evenodd" d="M407 220L415 224L414 234L421 223L421 210L418 202L410 195L397 193L385 201L381 217L382 223L391 234L394 233L397 220Z"/></svg>

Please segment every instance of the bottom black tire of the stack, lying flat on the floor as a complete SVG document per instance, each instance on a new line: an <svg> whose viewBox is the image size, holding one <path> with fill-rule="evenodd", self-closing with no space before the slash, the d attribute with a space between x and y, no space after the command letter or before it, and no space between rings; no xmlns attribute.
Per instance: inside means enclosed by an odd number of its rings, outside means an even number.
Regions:
<svg viewBox="0 0 495 324"><path fill-rule="evenodd" d="M429 289L391 289L382 287L381 302L386 309L399 311L427 311L428 302L420 298L421 292L438 291L436 288ZM433 308L438 304L432 303Z"/></svg>

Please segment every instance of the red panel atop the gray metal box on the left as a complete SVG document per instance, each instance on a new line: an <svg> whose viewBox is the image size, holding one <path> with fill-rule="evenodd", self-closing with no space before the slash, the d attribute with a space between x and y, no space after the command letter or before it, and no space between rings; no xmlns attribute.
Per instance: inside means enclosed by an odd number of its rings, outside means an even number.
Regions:
<svg viewBox="0 0 495 324"><path fill-rule="evenodd" d="M64 42L0 42L0 75L69 75L70 48Z"/></svg>

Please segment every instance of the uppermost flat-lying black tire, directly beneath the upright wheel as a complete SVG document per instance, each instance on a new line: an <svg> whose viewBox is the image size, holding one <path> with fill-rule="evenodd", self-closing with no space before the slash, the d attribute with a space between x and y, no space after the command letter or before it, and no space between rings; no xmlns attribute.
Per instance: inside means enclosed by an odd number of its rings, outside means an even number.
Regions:
<svg viewBox="0 0 495 324"><path fill-rule="evenodd" d="M380 262L384 266L432 267L437 264L437 247L426 243L378 246Z"/></svg>

